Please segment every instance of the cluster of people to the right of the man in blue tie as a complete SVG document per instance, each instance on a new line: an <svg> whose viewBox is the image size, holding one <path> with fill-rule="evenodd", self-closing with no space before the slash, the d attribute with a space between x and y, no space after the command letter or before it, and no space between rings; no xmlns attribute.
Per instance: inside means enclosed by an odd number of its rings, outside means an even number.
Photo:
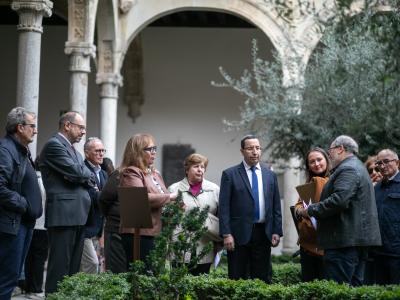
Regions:
<svg viewBox="0 0 400 300"><path fill-rule="evenodd" d="M305 157L310 205L295 205L303 281L330 279L352 286L400 283L400 175L390 149L356 157L357 143L339 136L328 152Z"/></svg>

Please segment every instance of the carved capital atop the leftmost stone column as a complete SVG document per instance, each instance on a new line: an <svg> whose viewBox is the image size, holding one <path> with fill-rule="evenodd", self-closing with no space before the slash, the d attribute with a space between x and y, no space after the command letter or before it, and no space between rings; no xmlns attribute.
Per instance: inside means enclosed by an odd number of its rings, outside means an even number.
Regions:
<svg viewBox="0 0 400 300"><path fill-rule="evenodd" d="M17 30L42 33L43 16L51 16L53 2L49 0L15 0L11 3L11 8L19 15L19 24L17 25Z"/></svg>

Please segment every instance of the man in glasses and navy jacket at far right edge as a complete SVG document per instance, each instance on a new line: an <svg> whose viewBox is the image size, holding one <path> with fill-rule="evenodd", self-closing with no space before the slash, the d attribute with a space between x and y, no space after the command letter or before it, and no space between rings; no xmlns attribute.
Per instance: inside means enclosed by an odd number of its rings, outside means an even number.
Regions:
<svg viewBox="0 0 400 300"><path fill-rule="evenodd" d="M376 165L383 180L375 186L382 246L376 248L376 283L400 284L399 157L390 149L378 153Z"/></svg>

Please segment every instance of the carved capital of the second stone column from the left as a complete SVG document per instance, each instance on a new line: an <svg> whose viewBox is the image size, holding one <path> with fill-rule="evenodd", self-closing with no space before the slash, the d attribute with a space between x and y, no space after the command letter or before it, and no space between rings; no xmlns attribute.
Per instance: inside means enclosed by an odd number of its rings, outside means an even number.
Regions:
<svg viewBox="0 0 400 300"><path fill-rule="evenodd" d="M90 58L96 57L95 45L86 42L66 42L64 52L70 56L70 71L90 72Z"/></svg>

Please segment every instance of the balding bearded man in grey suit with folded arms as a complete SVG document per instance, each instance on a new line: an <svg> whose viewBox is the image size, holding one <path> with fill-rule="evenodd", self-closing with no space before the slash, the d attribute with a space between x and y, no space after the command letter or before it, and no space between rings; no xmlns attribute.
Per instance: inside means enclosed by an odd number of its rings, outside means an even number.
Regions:
<svg viewBox="0 0 400 300"><path fill-rule="evenodd" d="M55 292L65 275L79 272L91 205L89 189L95 186L92 172L73 147L85 133L82 116L65 113L59 121L59 132L44 145L40 156L49 237L46 294Z"/></svg>

